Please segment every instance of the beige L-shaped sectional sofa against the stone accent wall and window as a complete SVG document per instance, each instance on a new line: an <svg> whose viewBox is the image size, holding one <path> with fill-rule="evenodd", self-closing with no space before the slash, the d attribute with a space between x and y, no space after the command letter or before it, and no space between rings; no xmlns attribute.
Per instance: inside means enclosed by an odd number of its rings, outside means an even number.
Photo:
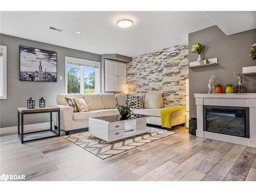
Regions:
<svg viewBox="0 0 256 192"><path fill-rule="evenodd" d="M138 94L135 94L138 95ZM89 107L89 112L73 113L72 106L69 106L66 96L83 98ZM133 109L133 113L151 116L147 118L147 123L161 125L160 112L163 108L163 98L161 94L144 94L144 107L147 109ZM71 130L86 128L89 125L89 118L118 115L116 104L126 103L126 94L58 94L57 105L60 108L60 129L69 135ZM157 106L157 108L154 108ZM152 108L153 107L153 108ZM186 122L185 111L173 113L172 126ZM57 119L54 118L54 125Z"/></svg>

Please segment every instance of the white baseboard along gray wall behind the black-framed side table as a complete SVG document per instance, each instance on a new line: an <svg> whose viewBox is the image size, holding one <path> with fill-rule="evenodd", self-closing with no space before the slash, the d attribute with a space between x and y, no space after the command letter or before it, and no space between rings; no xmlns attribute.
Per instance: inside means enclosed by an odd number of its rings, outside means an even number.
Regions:
<svg viewBox="0 0 256 192"><path fill-rule="evenodd" d="M52 125L53 126L53 125ZM50 128L50 122L45 123L35 123L35 124L26 124L24 125L24 132L40 131L47 128ZM0 135L6 134L18 134L18 126L9 126L0 128Z"/></svg>

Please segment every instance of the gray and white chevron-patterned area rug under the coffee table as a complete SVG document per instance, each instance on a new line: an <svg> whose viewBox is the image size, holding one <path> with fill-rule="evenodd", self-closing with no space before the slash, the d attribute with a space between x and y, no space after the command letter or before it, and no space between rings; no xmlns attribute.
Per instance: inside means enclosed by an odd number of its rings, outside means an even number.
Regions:
<svg viewBox="0 0 256 192"><path fill-rule="evenodd" d="M147 128L151 129L151 131L141 135L114 141L112 143L100 140L99 138L90 135L89 132L76 133L68 136L63 135L62 137L68 139L97 157L105 159L131 150L137 146L154 142L158 139L175 134L175 132L170 132L167 130L156 129L153 127Z"/></svg>

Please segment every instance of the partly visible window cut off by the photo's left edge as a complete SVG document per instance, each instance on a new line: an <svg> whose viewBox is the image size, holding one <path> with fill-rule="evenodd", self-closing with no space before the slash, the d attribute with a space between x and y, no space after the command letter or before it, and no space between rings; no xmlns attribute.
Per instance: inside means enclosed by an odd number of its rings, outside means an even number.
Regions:
<svg viewBox="0 0 256 192"><path fill-rule="evenodd" d="M0 99L7 99L7 47L0 46Z"/></svg>

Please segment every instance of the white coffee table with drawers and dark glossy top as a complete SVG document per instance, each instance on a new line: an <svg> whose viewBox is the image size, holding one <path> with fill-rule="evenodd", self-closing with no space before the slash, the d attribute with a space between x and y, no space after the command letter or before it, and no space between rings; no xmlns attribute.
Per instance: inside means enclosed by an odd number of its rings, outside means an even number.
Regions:
<svg viewBox="0 0 256 192"><path fill-rule="evenodd" d="M89 119L89 133L106 142L143 134L151 131L146 127L148 117L137 114L132 114L127 119L121 118L120 115L93 117Z"/></svg>

